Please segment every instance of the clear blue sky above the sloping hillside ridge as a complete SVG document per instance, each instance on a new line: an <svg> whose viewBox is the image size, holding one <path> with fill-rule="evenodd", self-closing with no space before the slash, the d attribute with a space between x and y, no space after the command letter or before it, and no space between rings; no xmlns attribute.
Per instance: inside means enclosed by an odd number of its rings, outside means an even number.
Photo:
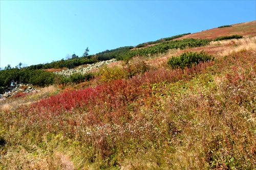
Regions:
<svg viewBox="0 0 256 170"><path fill-rule="evenodd" d="M0 1L0 67L256 20L255 1Z"/></svg>

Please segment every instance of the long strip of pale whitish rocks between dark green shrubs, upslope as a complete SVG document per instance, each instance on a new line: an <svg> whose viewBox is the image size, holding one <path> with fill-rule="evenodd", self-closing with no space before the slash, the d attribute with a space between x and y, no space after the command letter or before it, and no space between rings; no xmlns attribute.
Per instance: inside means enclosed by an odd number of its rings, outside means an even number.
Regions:
<svg viewBox="0 0 256 170"><path fill-rule="evenodd" d="M59 74L59 75L63 75L63 76L70 76L74 73L80 73L80 74L86 74L88 71L94 69L94 68L99 68L101 67L102 65L104 64L110 64L110 63L113 63L113 62L116 62L117 60L116 59L111 59L111 60L107 60L107 61L100 61L100 62L97 62L97 63L94 63L94 64L88 64L87 67L77 67L77 68L71 68L71 69L63 69L61 71L56 71L55 74Z"/></svg>

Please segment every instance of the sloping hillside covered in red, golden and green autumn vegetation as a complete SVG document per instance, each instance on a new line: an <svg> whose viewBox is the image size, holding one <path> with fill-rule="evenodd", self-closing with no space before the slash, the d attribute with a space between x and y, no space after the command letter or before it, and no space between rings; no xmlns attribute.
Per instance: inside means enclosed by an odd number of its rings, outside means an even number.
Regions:
<svg viewBox="0 0 256 170"><path fill-rule="evenodd" d="M256 22L179 39L0 100L0 169L256 169Z"/></svg>

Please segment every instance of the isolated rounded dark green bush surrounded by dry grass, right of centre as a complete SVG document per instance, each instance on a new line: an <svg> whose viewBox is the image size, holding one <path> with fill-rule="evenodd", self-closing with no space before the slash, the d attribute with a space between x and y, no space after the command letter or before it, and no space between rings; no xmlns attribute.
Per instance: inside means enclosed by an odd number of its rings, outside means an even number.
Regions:
<svg viewBox="0 0 256 170"><path fill-rule="evenodd" d="M184 69L185 67L192 67L193 65L197 65L200 62L214 60L214 57L204 53L201 51L200 53L197 52L187 52L182 53L180 56L173 56L169 58L167 64L172 68L181 68Z"/></svg>

